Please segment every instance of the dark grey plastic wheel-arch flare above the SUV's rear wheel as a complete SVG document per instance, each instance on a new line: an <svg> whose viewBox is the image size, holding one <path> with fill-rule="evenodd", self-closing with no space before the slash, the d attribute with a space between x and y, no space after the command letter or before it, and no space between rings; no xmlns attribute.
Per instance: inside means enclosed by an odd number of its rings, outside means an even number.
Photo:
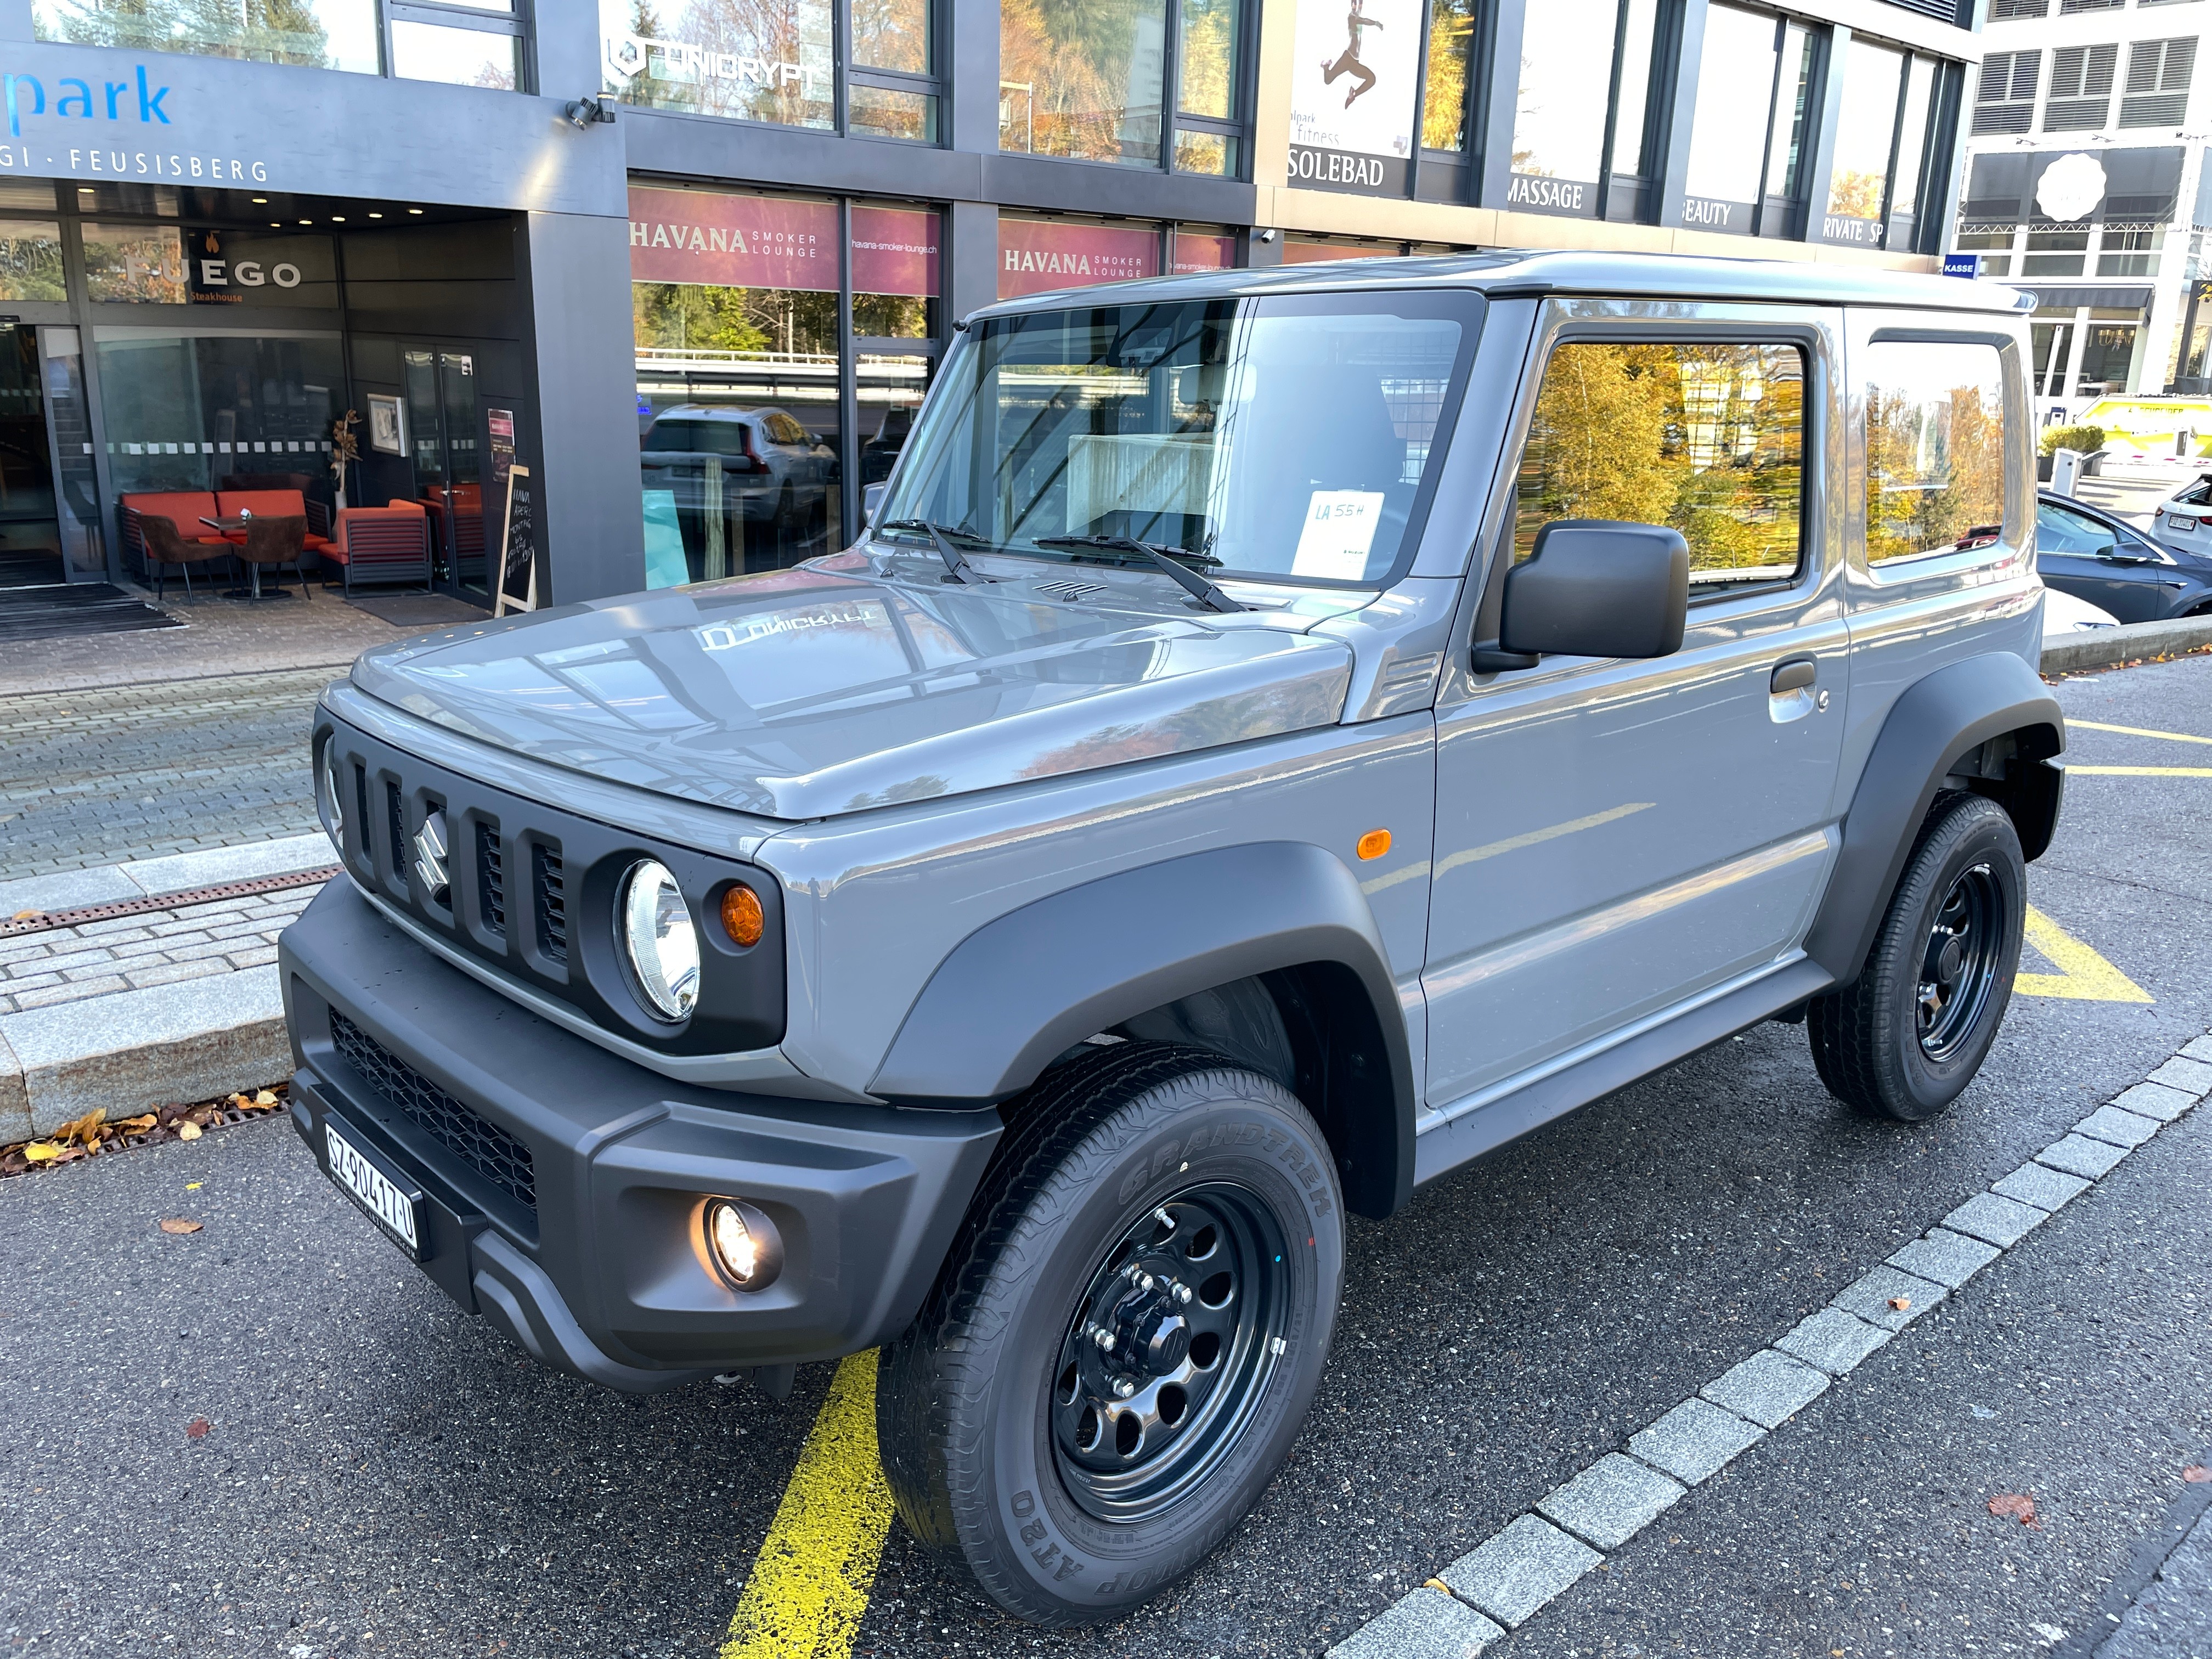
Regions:
<svg viewBox="0 0 2212 1659"><path fill-rule="evenodd" d="M1843 852L1805 940L1805 953L1838 987L1858 978L1944 774L1962 754L2006 732L2037 732L2037 739L2024 743L2013 763L2015 787L1997 785L1991 794L2008 810L2055 818L2057 785L2044 787L2026 768L2042 768L2066 748L2066 719L2026 659L2011 653L1966 657L1913 684L1889 710L1843 816ZM2024 823L2020 841L2042 852L2051 825Z"/></svg>

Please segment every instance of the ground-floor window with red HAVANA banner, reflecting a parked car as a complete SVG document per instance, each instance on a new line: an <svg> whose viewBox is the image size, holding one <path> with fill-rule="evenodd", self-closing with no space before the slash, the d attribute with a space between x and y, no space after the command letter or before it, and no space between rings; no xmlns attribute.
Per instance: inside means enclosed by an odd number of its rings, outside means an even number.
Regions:
<svg viewBox="0 0 2212 1659"><path fill-rule="evenodd" d="M847 480L905 442L940 215L633 186L630 307L648 586L783 568L845 544Z"/></svg>

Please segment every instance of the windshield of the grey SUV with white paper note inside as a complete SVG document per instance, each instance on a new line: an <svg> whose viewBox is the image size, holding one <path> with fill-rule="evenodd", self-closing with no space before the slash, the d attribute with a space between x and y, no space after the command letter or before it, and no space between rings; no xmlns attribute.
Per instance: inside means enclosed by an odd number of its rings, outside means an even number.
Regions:
<svg viewBox="0 0 2212 1659"><path fill-rule="evenodd" d="M874 520L900 542L938 524L1124 560L1106 542L1130 538L1217 577L1385 582L1411 557L1480 305L1279 294L987 319Z"/></svg>

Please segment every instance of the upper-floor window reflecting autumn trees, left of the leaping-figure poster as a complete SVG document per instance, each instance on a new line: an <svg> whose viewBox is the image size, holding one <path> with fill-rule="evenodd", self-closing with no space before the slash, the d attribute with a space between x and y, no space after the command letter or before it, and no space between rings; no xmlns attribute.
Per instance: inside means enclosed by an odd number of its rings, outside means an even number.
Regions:
<svg viewBox="0 0 2212 1659"><path fill-rule="evenodd" d="M1241 177L1243 7L1009 0L998 33L998 148Z"/></svg>

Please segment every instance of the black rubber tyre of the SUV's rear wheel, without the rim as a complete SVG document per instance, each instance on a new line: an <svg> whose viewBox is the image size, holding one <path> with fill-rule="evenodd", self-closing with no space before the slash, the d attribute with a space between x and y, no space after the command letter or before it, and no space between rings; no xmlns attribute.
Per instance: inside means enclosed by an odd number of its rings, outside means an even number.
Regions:
<svg viewBox="0 0 2212 1659"><path fill-rule="evenodd" d="M1922 1042L1920 993L1938 914L1962 889L1984 891L1993 931L1980 1006L1938 1051ZM1980 902L1980 900L1978 900ZM1995 801L1938 799L1920 827L1867 964L1843 991L1805 1011L1812 1060L1827 1093L1871 1117L1920 1124L1947 1110L1973 1082L2004 1024L2020 971L2026 920L2026 860L2020 834Z"/></svg>

